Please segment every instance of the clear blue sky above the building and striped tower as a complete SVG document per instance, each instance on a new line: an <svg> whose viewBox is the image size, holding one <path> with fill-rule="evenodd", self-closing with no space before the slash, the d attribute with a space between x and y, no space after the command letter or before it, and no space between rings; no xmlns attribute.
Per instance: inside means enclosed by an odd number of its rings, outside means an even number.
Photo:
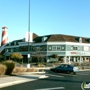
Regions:
<svg viewBox="0 0 90 90"><path fill-rule="evenodd" d="M28 1L0 0L0 35L7 26L9 41L28 31ZM30 31L90 37L90 0L30 0Z"/></svg>

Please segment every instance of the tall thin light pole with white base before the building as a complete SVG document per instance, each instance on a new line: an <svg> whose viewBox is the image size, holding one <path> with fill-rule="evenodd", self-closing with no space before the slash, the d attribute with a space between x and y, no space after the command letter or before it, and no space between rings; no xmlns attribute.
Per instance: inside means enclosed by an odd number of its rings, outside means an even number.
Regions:
<svg viewBox="0 0 90 90"><path fill-rule="evenodd" d="M29 0L29 8L28 8L28 64L27 64L27 68L30 68L29 59L30 59L30 0Z"/></svg>

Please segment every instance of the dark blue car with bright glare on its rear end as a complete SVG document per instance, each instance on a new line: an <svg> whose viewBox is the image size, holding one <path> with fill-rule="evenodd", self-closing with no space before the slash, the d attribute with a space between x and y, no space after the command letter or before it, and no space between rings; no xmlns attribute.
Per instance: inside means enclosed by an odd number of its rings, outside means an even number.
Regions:
<svg viewBox="0 0 90 90"><path fill-rule="evenodd" d="M66 72L68 74L70 73L76 74L76 72L79 71L78 67L70 64L61 64L60 66L51 68L50 70L55 72Z"/></svg>

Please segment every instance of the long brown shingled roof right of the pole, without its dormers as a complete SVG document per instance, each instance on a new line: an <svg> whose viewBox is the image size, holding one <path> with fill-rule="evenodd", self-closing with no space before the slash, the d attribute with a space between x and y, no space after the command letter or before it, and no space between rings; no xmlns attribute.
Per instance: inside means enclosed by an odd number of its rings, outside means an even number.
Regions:
<svg viewBox="0 0 90 90"><path fill-rule="evenodd" d="M79 39L82 38L82 43L90 43L90 38L80 37L80 36L71 36L64 34L52 34L46 36L36 37L34 39L35 43L42 42L42 38L47 37L44 42L77 42L79 43Z"/></svg>

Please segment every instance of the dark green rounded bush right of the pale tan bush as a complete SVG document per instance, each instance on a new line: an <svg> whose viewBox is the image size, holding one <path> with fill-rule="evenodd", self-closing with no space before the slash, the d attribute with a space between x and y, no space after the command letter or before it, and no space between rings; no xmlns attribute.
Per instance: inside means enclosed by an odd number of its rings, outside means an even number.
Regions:
<svg viewBox="0 0 90 90"><path fill-rule="evenodd" d="M6 75L12 74L12 71L15 67L15 63L12 60L7 60L7 61L2 62L2 64L7 67L5 74Z"/></svg>

